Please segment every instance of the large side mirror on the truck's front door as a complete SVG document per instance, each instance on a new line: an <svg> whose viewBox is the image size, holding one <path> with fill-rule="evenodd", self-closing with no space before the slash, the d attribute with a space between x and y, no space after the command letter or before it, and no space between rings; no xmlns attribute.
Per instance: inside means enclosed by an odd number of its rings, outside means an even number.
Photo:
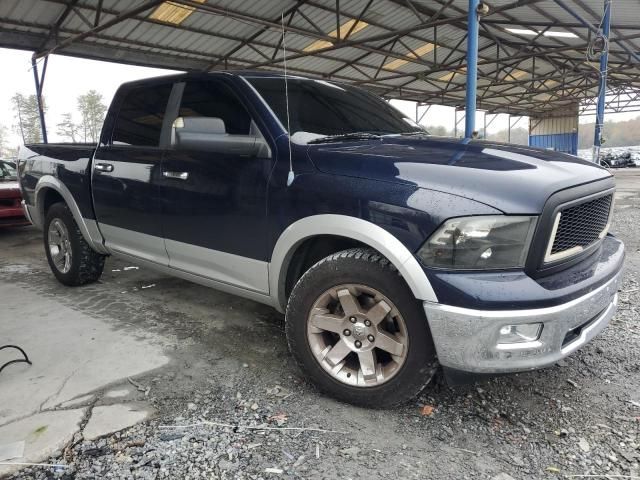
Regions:
<svg viewBox="0 0 640 480"><path fill-rule="evenodd" d="M243 157L270 156L264 138L253 128L249 135L229 135L216 117L178 117L171 129L171 144L179 150L200 150Z"/></svg>

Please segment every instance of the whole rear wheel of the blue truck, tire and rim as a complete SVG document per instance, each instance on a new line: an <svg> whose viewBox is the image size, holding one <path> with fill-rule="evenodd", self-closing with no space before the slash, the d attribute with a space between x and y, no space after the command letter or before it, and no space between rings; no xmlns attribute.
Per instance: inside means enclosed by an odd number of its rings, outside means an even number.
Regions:
<svg viewBox="0 0 640 480"><path fill-rule="evenodd" d="M102 275L105 256L89 246L65 203L56 203L47 210L44 246L51 271L60 283L84 285Z"/></svg>

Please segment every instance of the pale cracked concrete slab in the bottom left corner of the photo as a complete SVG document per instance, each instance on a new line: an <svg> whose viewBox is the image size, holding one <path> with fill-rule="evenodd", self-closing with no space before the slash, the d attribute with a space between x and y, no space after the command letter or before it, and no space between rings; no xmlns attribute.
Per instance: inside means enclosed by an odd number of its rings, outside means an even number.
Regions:
<svg viewBox="0 0 640 480"><path fill-rule="evenodd" d="M0 427L3 442L22 440L25 443L23 457L9 462L40 463L47 460L71 441L84 414L84 409L43 412ZM20 468L17 465L0 465L0 477Z"/></svg>

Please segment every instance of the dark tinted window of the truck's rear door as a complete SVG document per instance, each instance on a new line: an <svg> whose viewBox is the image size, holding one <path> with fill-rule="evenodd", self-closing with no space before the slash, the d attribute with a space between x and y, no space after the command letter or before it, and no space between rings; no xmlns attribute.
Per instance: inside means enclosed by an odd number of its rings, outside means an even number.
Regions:
<svg viewBox="0 0 640 480"><path fill-rule="evenodd" d="M171 88L165 84L129 90L122 99L111 143L157 147Z"/></svg>

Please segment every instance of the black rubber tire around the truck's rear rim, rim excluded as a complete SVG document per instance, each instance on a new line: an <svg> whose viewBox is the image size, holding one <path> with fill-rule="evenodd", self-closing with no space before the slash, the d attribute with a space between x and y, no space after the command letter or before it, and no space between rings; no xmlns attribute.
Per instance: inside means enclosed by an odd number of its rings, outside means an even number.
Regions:
<svg viewBox="0 0 640 480"><path fill-rule="evenodd" d="M49 246L49 226L54 220L60 220L69 234L71 247L71 266L68 272L62 272L51 257ZM76 287L95 282L102 275L106 256L93 250L82 236L71 210L65 203L55 203L49 207L44 222L44 247L51 271L64 285Z"/></svg>

